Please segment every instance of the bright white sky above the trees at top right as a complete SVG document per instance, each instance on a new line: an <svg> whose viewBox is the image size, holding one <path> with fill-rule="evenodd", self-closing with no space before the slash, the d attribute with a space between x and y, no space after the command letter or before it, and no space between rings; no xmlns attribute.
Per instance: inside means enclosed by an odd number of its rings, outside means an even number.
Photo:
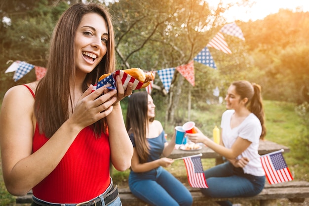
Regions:
<svg viewBox="0 0 309 206"><path fill-rule="evenodd" d="M210 6L217 6L220 0L207 0ZM222 0L223 3L236 2L237 0ZM280 8L290 9L296 11L309 11L309 0L250 0L255 2L250 7L236 7L230 8L223 16L227 18L228 22L235 20L255 21L263 19L269 14L277 13Z"/></svg>

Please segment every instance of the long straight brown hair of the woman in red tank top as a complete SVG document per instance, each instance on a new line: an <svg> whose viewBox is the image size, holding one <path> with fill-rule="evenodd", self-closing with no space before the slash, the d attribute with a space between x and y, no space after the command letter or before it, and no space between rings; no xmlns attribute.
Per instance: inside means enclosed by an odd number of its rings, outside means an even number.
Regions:
<svg viewBox="0 0 309 206"><path fill-rule="evenodd" d="M51 137L57 129L69 118L69 101L73 101L74 91L71 83L75 83L74 41L77 27L82 17L87 13L101 15L107 24L108 42L107 53L96 66L86 75L83 91L89 84L97 82L105 73L116 70L114 29L111 16L106 7L95 3L76 3L68 8L60 17L51 38L47 72L36 89L35 115L40 133ZM72 108L73 111L73 108ZM93 125L96 135L106 130L106 120L102 119Z"/></svg>

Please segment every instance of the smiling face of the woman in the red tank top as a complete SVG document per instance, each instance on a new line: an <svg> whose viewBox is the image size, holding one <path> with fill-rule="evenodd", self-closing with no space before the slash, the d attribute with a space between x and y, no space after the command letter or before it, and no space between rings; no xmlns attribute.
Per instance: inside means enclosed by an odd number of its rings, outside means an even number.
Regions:
<svg viewBox="0 0 309 206"><path fill-rule="evenodd" d="M108 29L104 18L97 13L85 14L75 36L77 73L90 73L107 52Z"/></svg>

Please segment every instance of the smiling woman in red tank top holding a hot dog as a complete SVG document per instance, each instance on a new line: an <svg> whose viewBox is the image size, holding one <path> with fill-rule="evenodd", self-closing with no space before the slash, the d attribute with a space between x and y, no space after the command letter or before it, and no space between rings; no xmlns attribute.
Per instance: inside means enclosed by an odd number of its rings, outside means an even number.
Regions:
<svg viewBox="0 0 309 206"><path fill-rule="evenodd" d="M117 78L117 89L92 92L116 70L114 46L107 8L73 4L54 29L45 77L6 92L0 146L11 194L33 190L32 206L121 206L110 163L121 171L131 165L119 101L133 85L124 90Z"/></svg>

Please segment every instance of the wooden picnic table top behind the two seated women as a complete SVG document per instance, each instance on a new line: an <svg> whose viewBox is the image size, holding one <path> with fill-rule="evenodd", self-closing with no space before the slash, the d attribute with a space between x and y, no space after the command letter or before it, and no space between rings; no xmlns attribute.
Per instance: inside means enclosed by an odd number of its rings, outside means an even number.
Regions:
<svg viewBox="0 0 309 206"><path fill-rule="evenodd" d="M283 149L284 152L290 152L290 148L288 148L287 146L284 145L280 145L277 144L275 142L271 142L269 140L261 140L260 141L260 145L259 145L259 154L260 155L265 155L271 152L275 152L278 150ZM219 161L220 159L222 159L222 157L214 152L212 149L210 149L209 147L202 145L202 149L200 150L196 150L196 151L185 151L185 150L181 150L181 149L175 149L173 150L172 154L170 156L168 156L168 158L181 158L181 157L186 157L186 156L190 156L190 155L197 155L199 153L202 153L202 157L201 158L215 158L216 161Z"/></svg>

